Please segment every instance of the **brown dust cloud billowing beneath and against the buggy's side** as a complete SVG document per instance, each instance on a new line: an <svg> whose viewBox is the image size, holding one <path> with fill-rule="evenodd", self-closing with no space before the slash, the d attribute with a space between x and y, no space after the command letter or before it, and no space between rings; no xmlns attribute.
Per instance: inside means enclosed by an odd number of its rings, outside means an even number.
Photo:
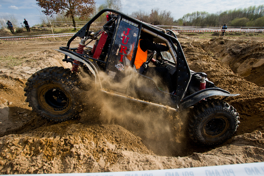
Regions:
<svg viewBox="0 0 264 176"><path fill-rule="evenodd" d="M127 76L123 78L122 82L109 79L109 76L104 72L99 72L97 79L100 79L103 87L110 87L111 90L125 90L130 84L143 88L148 87L147 82L133 72L129 67L126 72ZM178 112L166 109L166 107L156 107L153 103L148 104L146 101L144 104L129 100L132 97L115 96L113 91L105 93L104 90L109 91L109 89L98 90L93 75L87 73L81 75L81 82L90 87L90 90L82 93L86 107L81 113L80 121L82 123L119 124L142 138L143 144L157 155L173 156L176 147L182 148L182 140L186 133L183 131L183 124L186 123L184 119L180 118ZM153 79L159 81L158 77ZM136 92L131 94L135 95ZM169 98L169 95L165 96ZM187 118L186 116L184 117Z"/></svg>

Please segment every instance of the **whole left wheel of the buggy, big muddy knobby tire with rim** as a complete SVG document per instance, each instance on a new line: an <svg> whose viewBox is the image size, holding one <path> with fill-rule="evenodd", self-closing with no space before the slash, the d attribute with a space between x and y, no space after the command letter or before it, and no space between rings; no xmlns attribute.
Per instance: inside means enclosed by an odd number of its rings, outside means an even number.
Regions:
<svg viewBox="0 0 264 176"><path fill-rule="evenodd" d="M45 119L62 122L76 118L82 111L77 84L78 77L70 69L41 69L27 80L24 88L26 102Z"/></svg>

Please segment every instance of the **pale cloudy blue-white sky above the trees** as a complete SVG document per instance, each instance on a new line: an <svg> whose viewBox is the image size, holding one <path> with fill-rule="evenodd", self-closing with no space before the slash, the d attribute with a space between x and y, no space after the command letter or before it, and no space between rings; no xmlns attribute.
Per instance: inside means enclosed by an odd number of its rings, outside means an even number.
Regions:
<svg viewBox="0 0 264 176"><path fill-rule="evenodd" d="M105 0L95 0L95 2L98 6ZM264 0L121 0L121 3L121 11L128 15L138 10L150 13L152 8L159 8L159 10L171 11L176 20L195 11L216 13L259 6L264 4ZM40 8L36 5L36 0L0 0L0 18L8 14L13 14L18 19L18 23L23 23L24 18L30 26L40 23Z"/></svg>

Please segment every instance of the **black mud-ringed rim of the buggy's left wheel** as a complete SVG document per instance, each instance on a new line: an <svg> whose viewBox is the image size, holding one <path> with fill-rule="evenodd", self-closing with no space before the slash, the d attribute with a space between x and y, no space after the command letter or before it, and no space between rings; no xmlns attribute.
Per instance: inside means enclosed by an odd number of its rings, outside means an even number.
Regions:
<svg viewBox="0 0 264 176"><path fill-rule="evenodd" d="M50 86L40 92L40 103L51 113L64 113L71 106L71 98L64 89Z"/></svg>

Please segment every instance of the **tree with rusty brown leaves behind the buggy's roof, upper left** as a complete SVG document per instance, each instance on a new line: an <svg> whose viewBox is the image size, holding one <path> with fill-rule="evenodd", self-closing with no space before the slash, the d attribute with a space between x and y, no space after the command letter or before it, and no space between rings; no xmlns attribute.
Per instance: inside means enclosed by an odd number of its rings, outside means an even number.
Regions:
<svg viewBox="0 0 264 176"><path fill-rule="evenodd" d="M73 27L76 30L76 23L74 17L80 19L86 19L87 16L93 13L94 0L36 0L37 5L42 7L42 12L45 15L53 15L63 13L65 10L65 16L69 17L73 21Z"/></svg>

